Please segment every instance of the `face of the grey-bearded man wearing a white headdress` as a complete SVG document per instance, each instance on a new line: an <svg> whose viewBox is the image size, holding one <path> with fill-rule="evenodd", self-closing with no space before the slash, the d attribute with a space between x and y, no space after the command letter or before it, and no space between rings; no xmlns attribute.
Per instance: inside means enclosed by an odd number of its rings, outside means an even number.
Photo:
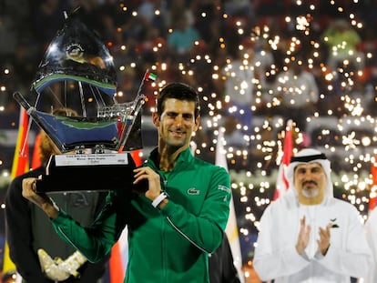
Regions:
<svg viewBox="0 0 377 283"><path fill-rule="evenodd" d="M302 205L321 204L327 181L321 164L316 162L299 164L294 169L293 181Z"/></svg>

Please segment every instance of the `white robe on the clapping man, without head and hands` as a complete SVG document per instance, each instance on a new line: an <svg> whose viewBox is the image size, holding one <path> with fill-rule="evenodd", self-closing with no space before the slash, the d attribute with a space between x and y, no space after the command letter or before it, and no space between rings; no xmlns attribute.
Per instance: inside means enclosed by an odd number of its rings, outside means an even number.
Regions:
<svg viewBox="0 0 377 283"><path fill-rule="evenodd" d="M299 255L295 246L304 215L306 224L311 225L311 240ZM317 252L319 227L325 228L330 222L338 227L331 228L330 248L323 257ZM253 264L264 281L351 282L351 277L365 277L372 264L359 212L334 197L316 207L303 207L287 193L265 209L259 228Z"/></svg>

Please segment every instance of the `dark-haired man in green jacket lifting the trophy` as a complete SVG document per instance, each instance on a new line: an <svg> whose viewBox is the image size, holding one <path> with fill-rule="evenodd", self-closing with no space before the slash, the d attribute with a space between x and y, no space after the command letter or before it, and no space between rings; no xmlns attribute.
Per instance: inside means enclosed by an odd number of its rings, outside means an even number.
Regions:
<svg viewBox="0 0 377 283"><path fill-rule="evenodd" d="M229 217L229 174L194 157L191 136L199 127L199 95L191 86L171 83L158 95L158 147L134 169L134 185L144 191L110 190L94 225L84 227L44 194L36 178L23 183L23 196L51 218L61 238L88 260L97 262L128 229L128 263L124 282L209 283L209 254L219 248Z"/></svg>

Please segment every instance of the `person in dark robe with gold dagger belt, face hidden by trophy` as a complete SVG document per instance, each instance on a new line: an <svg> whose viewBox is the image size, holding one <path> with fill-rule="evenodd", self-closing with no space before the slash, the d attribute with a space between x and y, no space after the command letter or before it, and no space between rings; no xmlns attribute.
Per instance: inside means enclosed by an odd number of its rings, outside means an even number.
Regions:
<svg viewBox="0 0 377 283"><path fill-rule="evenodd" d="M56 108L58 116L77 116L69 108ZM56 236L48 217L22 196L22 182L45 173L51 155L60 154L56 145L40 131L41 166L15 177L5 197L6 240L10 258L23 283L95 283L100 282L107 268L108 257L90 263L80 252ZM73 176L67 176L73 177ZM89 225L105 203L105 192L54 193L59 206Z"/></svg>

